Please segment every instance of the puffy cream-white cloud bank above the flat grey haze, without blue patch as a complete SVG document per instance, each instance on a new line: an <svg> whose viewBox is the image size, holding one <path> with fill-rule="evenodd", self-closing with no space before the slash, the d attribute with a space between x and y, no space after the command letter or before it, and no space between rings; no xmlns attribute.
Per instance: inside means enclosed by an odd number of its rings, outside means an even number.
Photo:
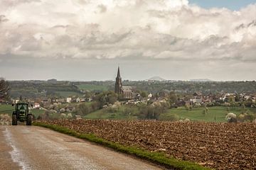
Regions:
<svg viewBox="0 0 256 170"><path fill-rule="evenodd" d="M187 0L2 0L0 54L19 57L256 62L256 4Z"/></svg>

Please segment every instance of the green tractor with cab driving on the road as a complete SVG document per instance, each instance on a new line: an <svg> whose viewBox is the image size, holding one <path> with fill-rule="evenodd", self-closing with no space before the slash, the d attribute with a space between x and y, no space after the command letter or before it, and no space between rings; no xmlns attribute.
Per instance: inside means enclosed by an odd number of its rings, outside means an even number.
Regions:
<svg viewBox="0 0 256 170"><path fill-rule="evenodd" d="M14 104L12 105L14 106ZM12 125L18 125L18 121L32 124L33 115L28 108L28 103L16 103L15 111L12 113Z"/></svg>

